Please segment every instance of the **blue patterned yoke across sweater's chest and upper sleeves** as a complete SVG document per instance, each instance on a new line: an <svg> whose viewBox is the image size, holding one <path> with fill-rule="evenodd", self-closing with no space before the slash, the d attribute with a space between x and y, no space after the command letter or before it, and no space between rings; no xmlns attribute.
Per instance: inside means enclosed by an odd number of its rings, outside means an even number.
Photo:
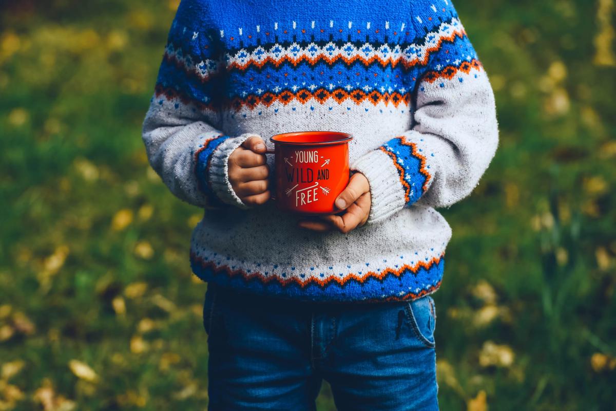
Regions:
<svg viewBox="0 0 616 411"><path fill-rule="evenodd" d="M410 104L423 76L434 81L477 60L451 2L440 0L440 9L431 2L412 4L402 16L370 4L332 8L327 18L282 9L245 28L233 23L243 21L241 9L229 7L214 28L208 24L209 2L183 0L157 91L211 110L290 101L344 104L349 110L363 101Z"/></svg>

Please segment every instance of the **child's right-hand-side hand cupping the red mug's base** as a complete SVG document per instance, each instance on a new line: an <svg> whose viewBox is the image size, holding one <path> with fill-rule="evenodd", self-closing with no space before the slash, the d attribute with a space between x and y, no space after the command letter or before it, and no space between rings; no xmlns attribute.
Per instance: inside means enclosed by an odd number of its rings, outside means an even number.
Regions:
<svg viewBox="0 0 616 411"><path fill-rule="evenodd" d="M347 233L365 224L371 205L368 179L362 173L354 173L349 180L349 185L336 198L336 207L346 210L344 214L341 216L328 214L317 219L302 219L298 225L321 232L338 229L340 232Z"/></svg>

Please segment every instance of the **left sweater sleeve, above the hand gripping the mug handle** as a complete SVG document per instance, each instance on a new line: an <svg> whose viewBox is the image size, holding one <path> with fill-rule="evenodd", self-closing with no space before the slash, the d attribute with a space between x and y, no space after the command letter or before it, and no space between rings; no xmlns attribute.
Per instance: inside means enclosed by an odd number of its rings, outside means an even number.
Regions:
<svg viewBox="0 0 616 411"><path fill-rule="evenodd" d="M248 208L235 194L227 160L248 137L220 131L223 53L197 0L182 0L169 30L142 138L148 161L174 195L197 206Z"/></svg>

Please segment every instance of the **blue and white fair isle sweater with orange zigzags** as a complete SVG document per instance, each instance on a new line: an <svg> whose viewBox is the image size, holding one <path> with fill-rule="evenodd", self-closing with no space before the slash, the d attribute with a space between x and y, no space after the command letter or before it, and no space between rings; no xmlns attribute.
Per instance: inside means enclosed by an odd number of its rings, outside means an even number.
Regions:
<svg viewBox="0 0 616 411"><path fill-rule="evenodd" d="M245 139L342 131L370 182L368 221L312 232L247 206L227 159ZM488 77L451 0L182 0L143 139L172 193L205 209L192 271L303 301L419 298L452 235L435 208L467 197L498 145ZM273 156L268 165L273 169Z"/></svg>

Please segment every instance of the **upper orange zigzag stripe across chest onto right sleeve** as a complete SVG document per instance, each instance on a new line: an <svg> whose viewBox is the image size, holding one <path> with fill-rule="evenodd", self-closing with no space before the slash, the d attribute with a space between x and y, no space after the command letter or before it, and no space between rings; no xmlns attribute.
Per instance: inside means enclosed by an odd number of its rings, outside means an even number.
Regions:
<svg viewBox="0 0 616 411"><path fill-rule="evenodd" d="M277 67L277 68L280 68L280 66L283 65L285 62L290 63L291 65L294 65L294 66L297 66L302 62L307 62L312 65L316 65L319 62L326 62L331 65L331 64L338 62L339 60L342 60L342 62L346 63L347 65L351 65L352 63L356 61L360 61L366 66L370 65L371 63L375 61L378 61L382 67L387 67L387 65L391 65L392 68L396 67L399 64L402 64L402 66L405 69L408 69L408 68L415 67L416 65L428 64L428 61L432 53L439 51L440 47L442 46L443 43L445 43L445 41L449 43L453 43L456 37L463 38L464 35L466 35L466 31L456 30L452 33L451 36L440 38L439 43L437 43L434 47L430 47L429 49L426 49L426 55L422 60L415 58L413 60L407 61L407 60L404 60L403 56L400 56L397 59L389 57L383 60L378 55L373 55L373 57L371 57L370 59L365 59L360 55L354 55L353 57L349 58L349 57L344 57L344 55L342 54L334 55L333 57L328 57L328 55L325 55L325 54L319 54L315 57L309 57L304 54L304 55L301 55L301 57L297 57L297 58L293 58L288 55L285 55L283 57L280 57L280 59L275 59L274 57L267 56L265 57L265 59L261 60L261 62L257 62L254 59L249 59L248 62L244 64L240 64L238 62L232 62L227 66L227 71L230 71L232 69L245 71L251 66L257 67L257 68L263 68L267 63L271 63L272 65L274 65L274 67Z"/></svg>

